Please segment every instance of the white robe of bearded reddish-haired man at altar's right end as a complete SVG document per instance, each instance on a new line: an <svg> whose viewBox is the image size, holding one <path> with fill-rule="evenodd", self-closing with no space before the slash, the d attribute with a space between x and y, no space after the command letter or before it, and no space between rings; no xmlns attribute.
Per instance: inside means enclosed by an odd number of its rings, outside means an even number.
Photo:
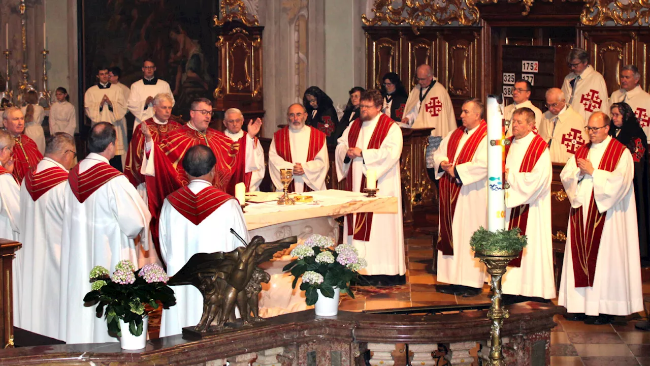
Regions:
<svg viewBox="0 0 650 366"><path fill-rule="evenodd" d="M363 152L363 158L354 158L345 162L348 151L350 131L355 124L361 124L356 144ZM373 134L389 124L383 141L378 148L369 148ZM387 197L397 197L396 214L371 214L372 226L368 227L370 233L367 240L356 239L352 232L350 222L357 226L357 219L363 213L348 216L343 222L343 242L352 244L359 251L359 257L367 260L368 266L360 270L362 275L404 275L406 264L404 259L404 227L402 224L402 184L400 180L400 155L402 154L402 130L389 117L379 113L374 119L361 122L354 120L339 138L336 147L336 174L339 182L352 175L352 186L348 183L348 190L359 192L365 188L365 174L369 169L374 170L377 176L379 194ZM370 215L368 216L370 217ZM364 221L364 222L367 222ZM365 234L367 236L367 232Z"/></svg>

